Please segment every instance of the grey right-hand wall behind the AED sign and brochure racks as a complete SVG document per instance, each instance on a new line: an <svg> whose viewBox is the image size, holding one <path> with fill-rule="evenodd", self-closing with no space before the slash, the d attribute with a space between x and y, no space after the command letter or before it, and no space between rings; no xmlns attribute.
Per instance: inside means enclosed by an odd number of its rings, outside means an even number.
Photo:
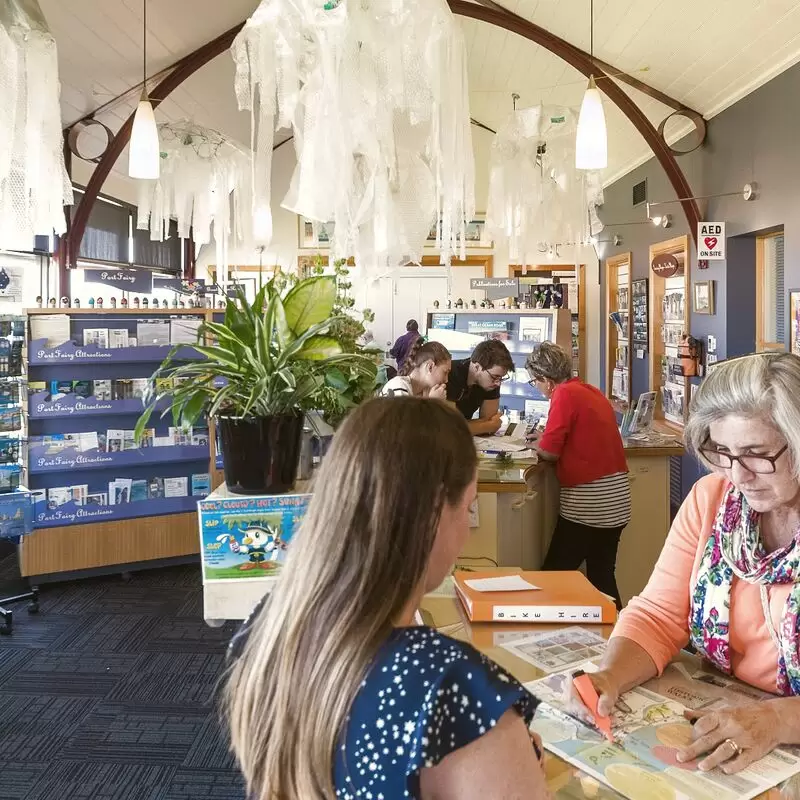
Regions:
<svg viewBox="0 0 800 800"><path fill-rule="evenodd" d="M602 243L601 259L631 251L633 278L649 278L649 247L674 236L688 234L690 239L691 282L716 281L717 313L713 316L691 314L690 333L698 338L717 337L717 357L743 355L755 349L755 237L758 233L783 226L785 234L785 319L789 290L800 287L800 65L774 78L748 97L740 100L709 123L705 145L679 157L694 195L738 192L745 183L757 183L758 199L745 202L739 196L700 201L701 217L708 221L727 222L727 261L710 262L708 269L697 268L697 253L679 204L659 207L672 215L673 226L667 230L652 225L615 227L613 223L645 219L645 207L634 208L631 190L647 179L648 199L670 200L676 197L663 170L655 159L626 175L605 192L600 217L607 224L601 238L622 236L619 247ZM601 271L605 281L605 269ZM601 291L605 302L605 288ZM607 309L601 318L607 319ZM604 338L607 325L601 326ZM785 341L789 341L788 329ZM605 357L605 342L601 353ZM649 355L648 355L649 359ZM648 389L649 360L633 360L631 387L634 398ZM602 375L607 375L603 369ZM685 495L699 477L698 466L683 459L682 489Z"/></svg>

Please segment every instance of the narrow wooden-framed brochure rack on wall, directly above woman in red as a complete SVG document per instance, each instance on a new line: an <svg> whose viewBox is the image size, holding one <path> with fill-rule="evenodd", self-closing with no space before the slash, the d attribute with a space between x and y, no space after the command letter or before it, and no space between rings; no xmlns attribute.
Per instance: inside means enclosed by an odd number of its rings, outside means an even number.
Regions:
<svg viewBox="0 0 800 800"><path fill-rule="evenodd" d="M619 411L631 404L630 253L606 261L606 397Z"/></svg>

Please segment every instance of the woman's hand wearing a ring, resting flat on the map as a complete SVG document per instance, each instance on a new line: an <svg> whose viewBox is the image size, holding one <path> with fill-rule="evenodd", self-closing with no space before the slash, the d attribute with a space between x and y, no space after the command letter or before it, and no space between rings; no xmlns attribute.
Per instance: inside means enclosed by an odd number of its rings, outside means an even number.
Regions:
<svg viewBox="0 0 800 800"><path fill-rule="evenodd" d="M781 744L779 702L769 700L722 711L684 711L693 722L694 741L678 751L678 761L705 755L697 765L700 770L721 767L725 773L739 772L758 761Z"/></svg>

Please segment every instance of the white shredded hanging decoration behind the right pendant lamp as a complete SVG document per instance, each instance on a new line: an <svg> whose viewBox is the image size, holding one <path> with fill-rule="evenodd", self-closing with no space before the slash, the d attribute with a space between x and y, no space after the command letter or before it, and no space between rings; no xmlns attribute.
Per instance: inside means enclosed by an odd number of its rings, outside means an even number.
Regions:
<svg viewBox="0 0 800 800"><path fill-rule="evenodd" d="M575 168L578 117L562 106L514 111L492 141L486 228L506 239L512 263L559 255L602 229L600 174Z"/></svg>

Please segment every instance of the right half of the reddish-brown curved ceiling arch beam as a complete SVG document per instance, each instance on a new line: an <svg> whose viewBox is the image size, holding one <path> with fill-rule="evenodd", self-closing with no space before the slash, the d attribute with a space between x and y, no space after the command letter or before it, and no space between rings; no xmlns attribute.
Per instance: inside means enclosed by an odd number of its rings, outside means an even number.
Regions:
<svg viewBox="0 0 800 800"><path fill-rule="evenodd" d="M592 59L588 53L584 53L583 50L522 17L518 17L509 12L497 11L495 8L479 6L467 2L466 0L448 0L448 3L454 14L476 19L480 22L487 22L490 25L504 28L511 33L516 33L525 39L535 42L566 61L570 66L578 70L578 72L582 72L587 78L592 74L595 76L597 76L598 73L603 74L602 71L598 69L596 63L592 63ZM607 80L598 82L598 88L631 121L636 130L639 131L650 146L653 154L658 159L658 163L661 164L664 172L666 172L667 178L670 184L672 184L672 188L675 190L675 194L678 197L691 197L691 186L689 186L686 176L678 166L678 162L675 160L675 156L672 154L669 145L658 135L658 131L653 127L653 124L636 103L634 103L617 84L611 79L608 79L608 76L605 77ZM686 216L686 222L689 225L689 230L696 246L697 223L700 222L700 209L694 200L683 200L681 206L683 207L683 213Z"/></svg>

